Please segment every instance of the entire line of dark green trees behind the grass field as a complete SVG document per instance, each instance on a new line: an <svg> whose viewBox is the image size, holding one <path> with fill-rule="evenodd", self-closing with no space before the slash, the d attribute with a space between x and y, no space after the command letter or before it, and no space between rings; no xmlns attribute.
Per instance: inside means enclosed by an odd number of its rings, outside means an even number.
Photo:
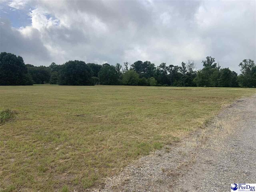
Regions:
<svg viewBox="0 0 256 192"><path fill-rule="evenodd" d="M150 61L124 62L115 66L68 61L50 66L24 64L22 57L11 53L0 54L0 85L132 85L132 86L199 86L199 87L256 87L256 65L253 60L240 62L241 74L221 68L215 58L207 56L203 68L196 70L193 60L180 66Z"/></svg>

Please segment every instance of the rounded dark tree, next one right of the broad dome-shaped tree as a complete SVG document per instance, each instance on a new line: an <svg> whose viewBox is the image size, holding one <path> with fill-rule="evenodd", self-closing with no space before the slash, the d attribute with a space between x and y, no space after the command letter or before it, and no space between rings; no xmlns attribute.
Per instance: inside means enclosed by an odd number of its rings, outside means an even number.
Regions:
<svg viewBox="0 0 256 192"><path fill-rule="evenodd" d="M102 85L118 85L120 84L119 74L114 66L103 64L99 72L100 83Z"/></svg>

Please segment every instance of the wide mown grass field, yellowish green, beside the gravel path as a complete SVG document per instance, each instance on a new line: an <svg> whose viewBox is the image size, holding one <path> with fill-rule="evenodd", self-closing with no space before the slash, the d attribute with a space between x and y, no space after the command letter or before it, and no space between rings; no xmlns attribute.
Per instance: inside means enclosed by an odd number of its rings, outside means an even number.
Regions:
<svg viewBox="0 0 256 192"><path fill-rule="evenodd" d="M0 86L0 191L74 191L177 142L243 88Z"/></svg>

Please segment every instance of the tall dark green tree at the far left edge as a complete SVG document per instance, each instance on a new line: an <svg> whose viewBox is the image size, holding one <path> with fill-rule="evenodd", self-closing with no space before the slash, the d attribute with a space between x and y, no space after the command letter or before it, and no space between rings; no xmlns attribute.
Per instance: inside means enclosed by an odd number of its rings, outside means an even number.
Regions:
<svg viewBox="0 0 256 192"><path fill-rule="evenodd" d="M0 53L0 85L32 85L32 79L21 56Z"/></svg>

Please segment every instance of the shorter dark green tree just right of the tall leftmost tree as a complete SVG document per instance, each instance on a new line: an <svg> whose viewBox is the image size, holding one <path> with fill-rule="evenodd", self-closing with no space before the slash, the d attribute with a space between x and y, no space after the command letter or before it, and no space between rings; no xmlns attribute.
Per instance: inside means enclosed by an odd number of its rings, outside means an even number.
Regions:
<svg viewBox="0 0 256 192"><path fill-rule="evenodd" d="M30 64L26 66L34 84L47 84L50 82L51 72L49 68L46 66L30 66Z"/></svg>

